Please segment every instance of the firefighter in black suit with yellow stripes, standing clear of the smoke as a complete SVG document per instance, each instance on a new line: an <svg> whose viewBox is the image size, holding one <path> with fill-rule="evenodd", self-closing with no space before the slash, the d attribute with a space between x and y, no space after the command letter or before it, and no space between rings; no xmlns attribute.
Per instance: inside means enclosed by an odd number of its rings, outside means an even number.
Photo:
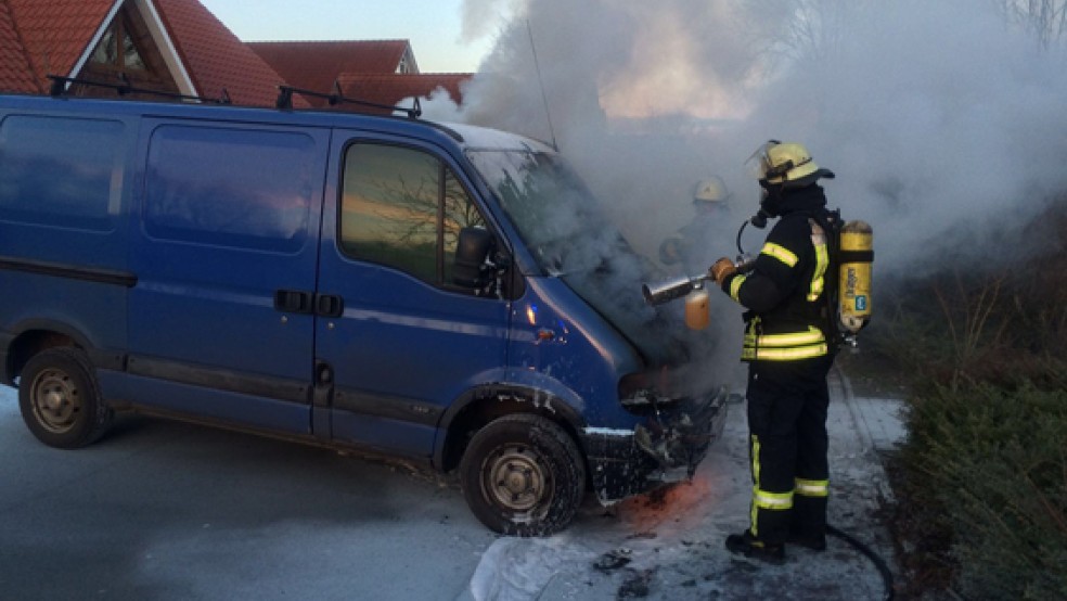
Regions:
<svg viewBox="0 0 1067 601"><path fill-rule="evenodd" d="M826 374L833 363L822 309L828 265L826 196L833 178L807 149L771 141L754 155L761 190L753 223L777 218L746 273L721 258L709 276L747 309L750 523L727 537L734 553L779 563L785 542L826 548Z"/></svg>

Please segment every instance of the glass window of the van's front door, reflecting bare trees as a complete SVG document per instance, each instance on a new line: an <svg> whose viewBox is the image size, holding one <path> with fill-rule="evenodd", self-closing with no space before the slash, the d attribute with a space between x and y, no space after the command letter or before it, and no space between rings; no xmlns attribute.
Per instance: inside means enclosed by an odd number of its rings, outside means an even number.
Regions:
<svg viewBox="0 0 1067 601"><path fill-rule="evenodd" d="M358 143L345 156L345 255L447 285L459 232L486 222L451 169L403 146Z"/></svg>

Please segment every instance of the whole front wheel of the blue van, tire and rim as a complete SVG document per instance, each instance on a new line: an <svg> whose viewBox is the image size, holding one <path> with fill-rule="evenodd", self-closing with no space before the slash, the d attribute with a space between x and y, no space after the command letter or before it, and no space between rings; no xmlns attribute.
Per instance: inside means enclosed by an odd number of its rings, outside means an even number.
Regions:
<svg viewBox="0 0 1067 601"><path fill-rule="evenodd" d="M471 439L460 462L463 496L489 529L548 536L566 528L586 493L574 438L532 414L505 415Z"/></svg>

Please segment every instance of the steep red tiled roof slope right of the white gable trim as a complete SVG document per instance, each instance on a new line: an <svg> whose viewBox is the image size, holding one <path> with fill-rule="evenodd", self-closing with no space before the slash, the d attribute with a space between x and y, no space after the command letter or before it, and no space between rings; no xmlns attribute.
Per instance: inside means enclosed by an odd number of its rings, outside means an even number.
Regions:
<svg viewBox="0 0 1067 601"><path fill-rule="evenodd" d="M217 98L226 89L234 104L274 105L284 79L203 4L155 0L155 5L201 95Z"/></svg>

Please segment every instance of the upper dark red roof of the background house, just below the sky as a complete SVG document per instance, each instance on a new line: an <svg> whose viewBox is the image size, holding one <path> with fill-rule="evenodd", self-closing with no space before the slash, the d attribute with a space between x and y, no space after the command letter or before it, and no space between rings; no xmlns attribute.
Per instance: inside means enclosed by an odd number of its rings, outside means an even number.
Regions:
<svg viewBox="0 0 1067 601"><path fill-rule="evenodd" d="M327 93L343 73L394 74L408 40L246 42L294 88Z"/></svg>

